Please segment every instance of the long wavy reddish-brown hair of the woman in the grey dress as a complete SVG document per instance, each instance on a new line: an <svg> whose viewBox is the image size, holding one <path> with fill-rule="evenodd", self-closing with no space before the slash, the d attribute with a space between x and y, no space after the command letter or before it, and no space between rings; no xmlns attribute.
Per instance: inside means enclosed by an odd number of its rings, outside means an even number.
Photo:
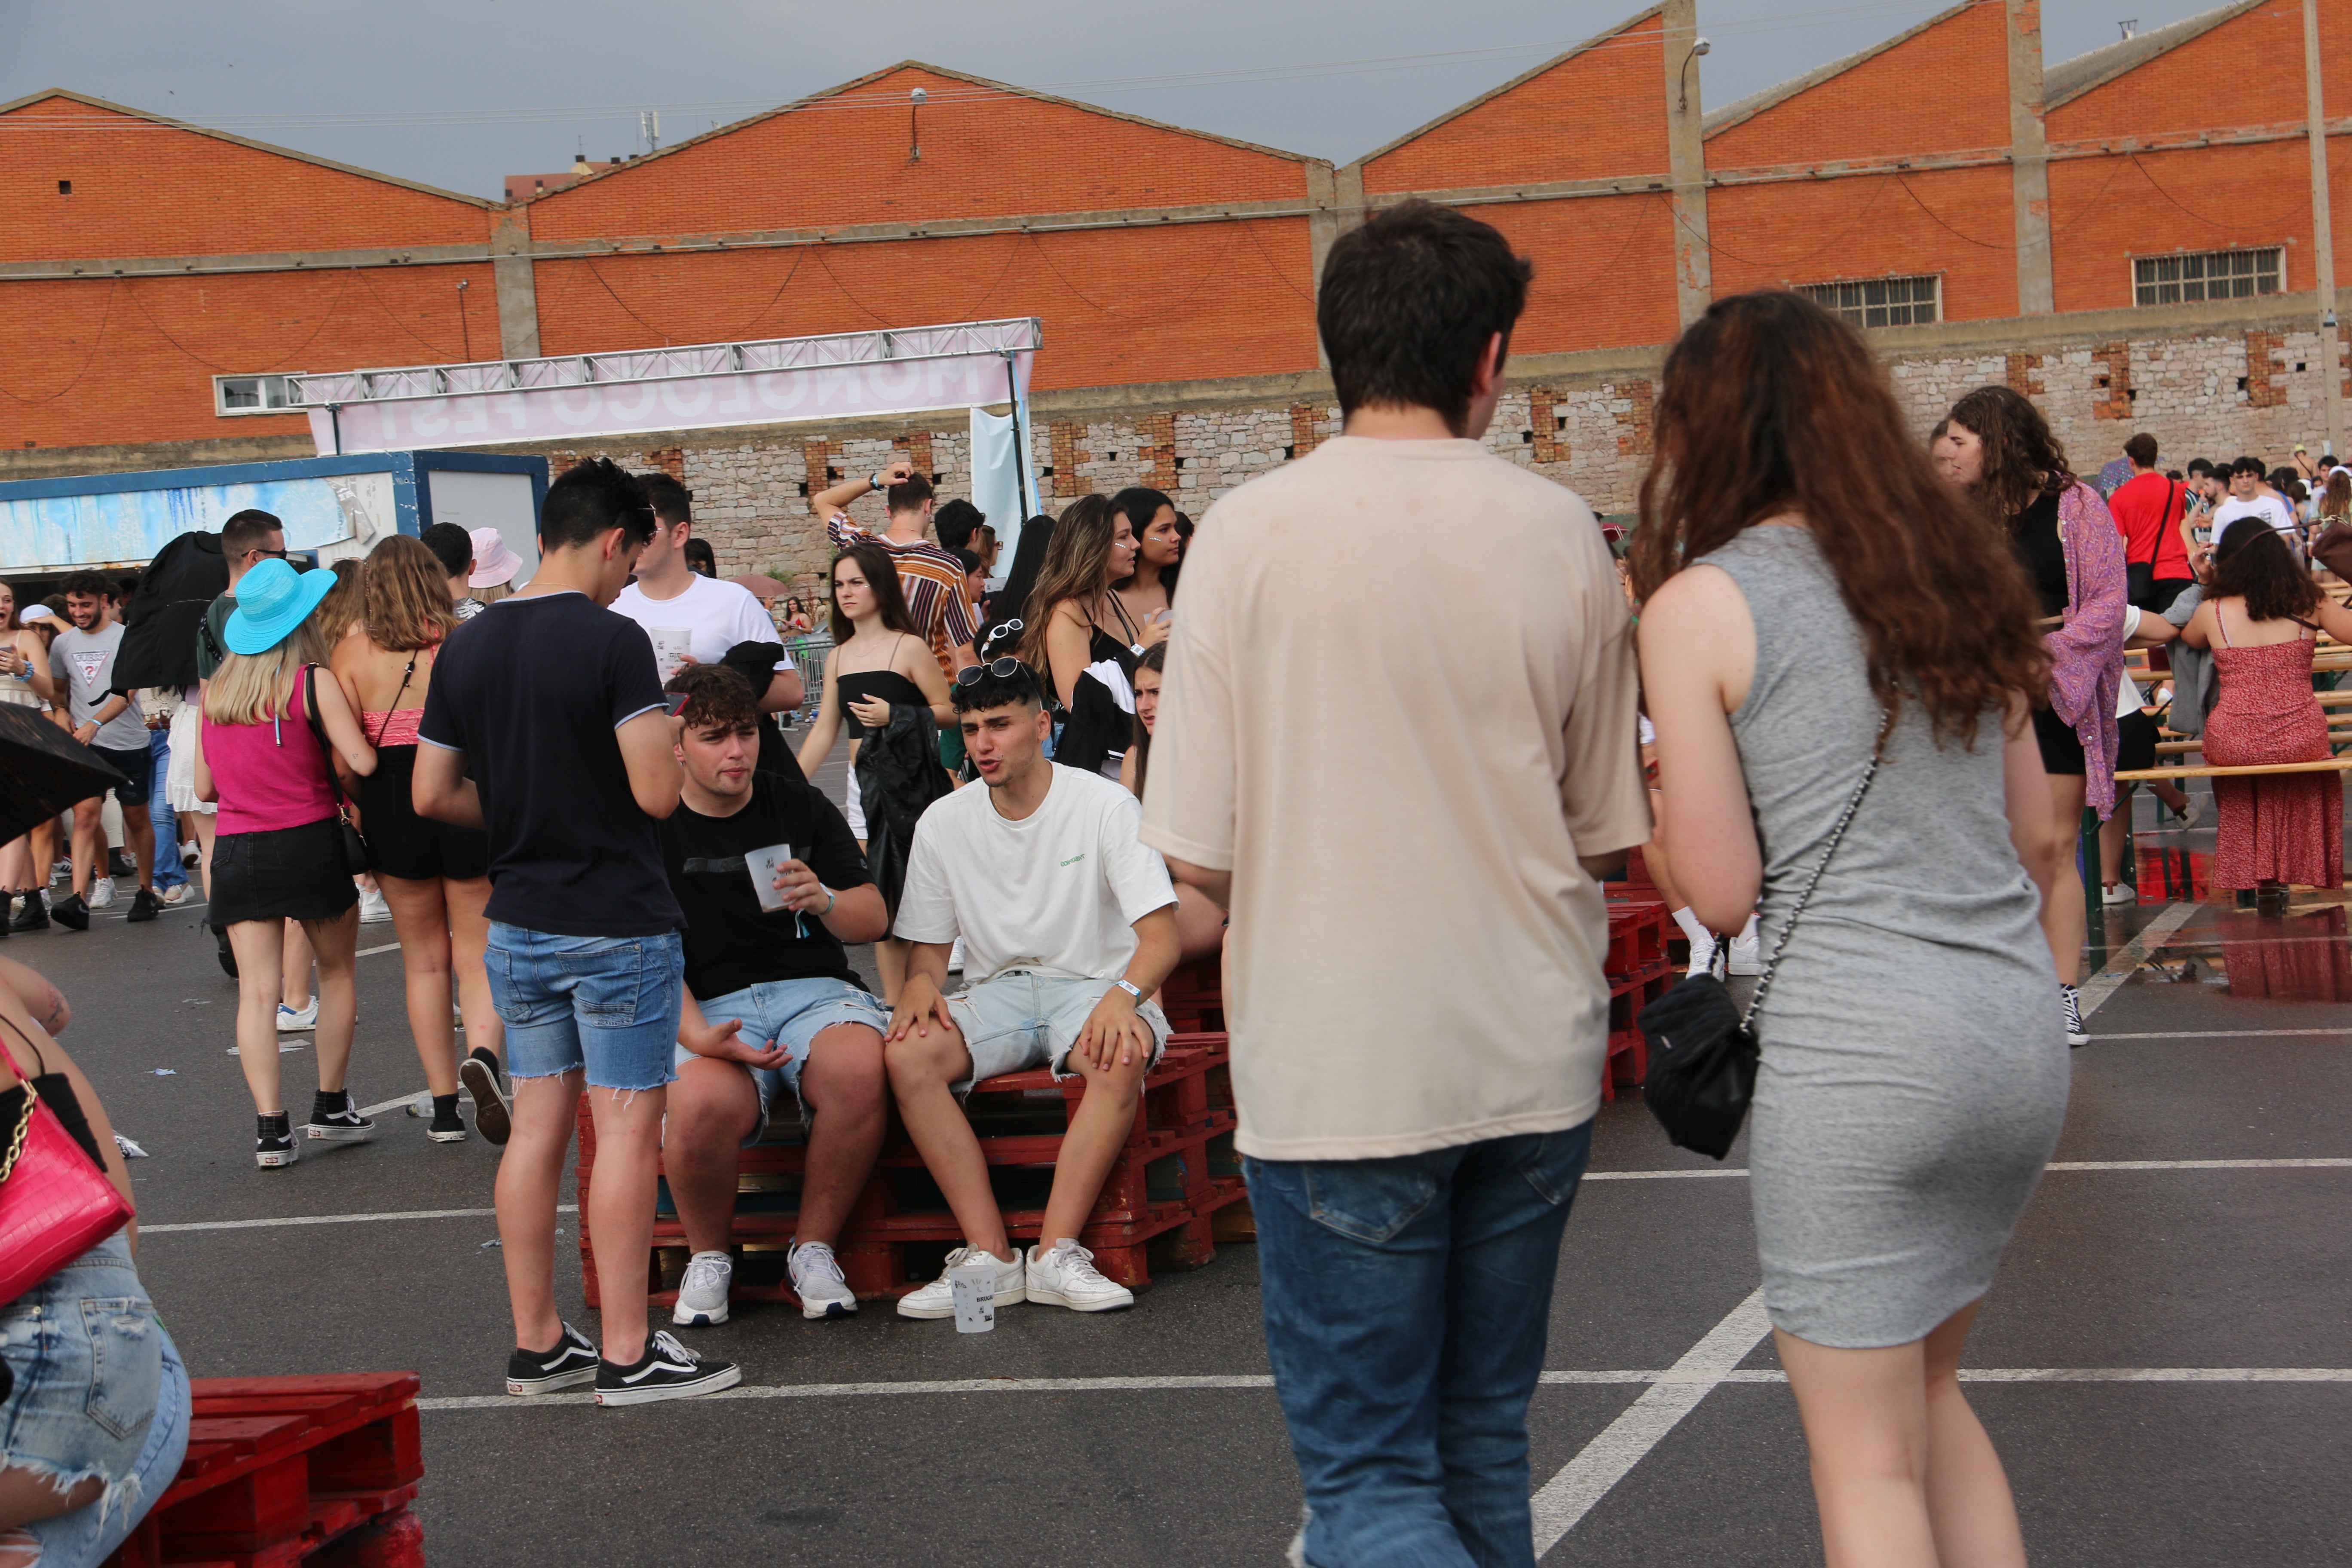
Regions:
<svg viewBox="0 0 2352 1568"><path fill-rule="evenodd" d="M1743 529L1795 515L1863 630L1889 715L1976 743L2049 654L2009 541L1936 477L1860 334L1797 294L1715 301L1665 357L1656 456L1628 559L1644 597ZM1999 724L1999 719L1994 719Z"/></svg>

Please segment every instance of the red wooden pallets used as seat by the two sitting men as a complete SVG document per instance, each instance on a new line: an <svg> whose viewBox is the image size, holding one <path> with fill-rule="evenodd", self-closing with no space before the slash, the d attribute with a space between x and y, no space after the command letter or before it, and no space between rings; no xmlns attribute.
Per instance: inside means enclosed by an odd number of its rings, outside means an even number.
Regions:
<svg viewBox="0 0 2352 1568"><path fill-rule="evenodd" d="M1049 1072L1011 1072L981 1081L967 1100L967 1114L981 1135L981 1154L993 1171L1018 1178L1054 1164L1063 1128L1087 1084L1080 1077L1054 1081ZM1112 1161L1094 1215L1080 1237L1096 1253L1105 1276L1143 1288L1150 1267L1200 1267L1216 1255L1214 1215L1237 1201L1240 1166L1232 1159L1232 1079L1225 1065L1223 1034L1171 1037L1160 1065L1143 1079L1143 1098L1127 1145ZM579 1112L579 1180L586 1194L595 1171L595 1126L588 1107ZM807 1147L797 1121L779 1117L769 1140L741 1154L734 1244L743 1253L734 1295L739 1300L781 1300L800 1305L783 1276L781 1253L797 1222L797 1178L807 1166ZM875 1175L851 1208L835 1255L849 1288L863 1298L903 1295L922 1279L910 1253L943 1253L960 1241L955 1218L938 1206L903 1204L906 1187L922 1187L922 1157L903 1133L884 1145ZM1037 1187L1033 1178L1028 1182ZM1014 1239L1035 1239L1044 1211L1035 1204L1004 1204L1004 1225ZM675 1300L684 1269L684 1227L675 1211L654 1218L654 1253L647 1284L654 1300ZM595 1248L581 1199L581 1272L588 1305L597 1305Z"/></svg>

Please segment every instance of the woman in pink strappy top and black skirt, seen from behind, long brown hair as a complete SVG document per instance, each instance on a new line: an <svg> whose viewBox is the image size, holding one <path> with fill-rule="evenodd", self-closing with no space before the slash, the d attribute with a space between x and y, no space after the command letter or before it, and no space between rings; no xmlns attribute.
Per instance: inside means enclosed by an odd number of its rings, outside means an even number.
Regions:
<svg viewBox="0 0 2352 1568"><path fill-rule="evenodd" d="M454 527L452 534L459 534ZM473 541L466 541L468 548ZM407 536L381 541L367 552L360 583L360 635L334 649L334 675L360 715L360 729L376 748L376 771L360 780L360 835L376 886L393 905L400 933L409 1034L433 1091L426 1138L463 1143L456 1114L459 1088L473 1095L473 1126L489 1143L506 1143L508 1105L499 1091L506 1067L506 1025L489 1001L489 835L416 816L416 722L433 684L433 658L456 630L449 569L430 545ZM466 1058L459 1060L449 1027L449 976L466 1018Z"/></svg>

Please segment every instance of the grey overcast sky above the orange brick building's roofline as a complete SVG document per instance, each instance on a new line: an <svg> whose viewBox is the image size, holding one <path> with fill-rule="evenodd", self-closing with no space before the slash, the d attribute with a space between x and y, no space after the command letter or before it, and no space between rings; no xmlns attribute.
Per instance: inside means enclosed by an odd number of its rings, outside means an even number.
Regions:
<svg viewBox="0 0 2352 1568"><path fill-rule="evenodd" d="M1700 0L1729 103L1950 0ZM2051 61L2209 0L2046 0ZM642 150L898 59L1345 162L1639 0L0 0L0 101L71 87L499 197L506 174ZM1343 19L1343 28L1334 28ZM1051 155L1040 148L1040 155Z"/></svg>

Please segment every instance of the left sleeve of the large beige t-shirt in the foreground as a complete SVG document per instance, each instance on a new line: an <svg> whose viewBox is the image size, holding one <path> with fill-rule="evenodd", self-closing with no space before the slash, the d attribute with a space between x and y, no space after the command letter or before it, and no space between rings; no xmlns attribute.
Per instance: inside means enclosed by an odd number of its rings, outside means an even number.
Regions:
<svg viewBox="0 0 2352 1568"><path fill-rule="evenodd" d="M1237 748L1216 564L1216 534L1204 517L1185 552L1183 614L1169 632L1152 764L1143 783L1143 842L1164 856L1230 872Z"/></svg>

